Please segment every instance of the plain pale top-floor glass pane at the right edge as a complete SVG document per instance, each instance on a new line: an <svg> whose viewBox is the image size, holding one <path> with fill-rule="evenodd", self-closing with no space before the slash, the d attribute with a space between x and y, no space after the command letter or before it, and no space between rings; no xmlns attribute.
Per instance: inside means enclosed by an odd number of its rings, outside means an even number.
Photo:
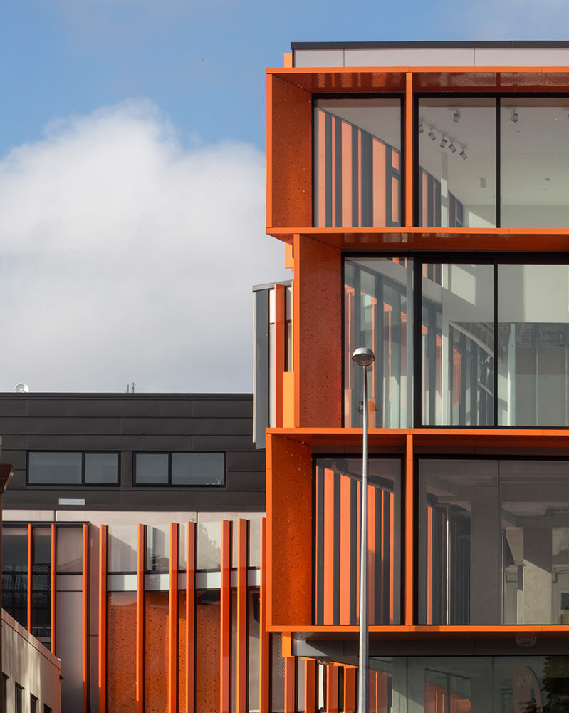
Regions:
<svg viewBox="0 0 569 713"><path fill-rule="evenodd" d="M567 97L502 98L501 226L567 227Z"/></svg>

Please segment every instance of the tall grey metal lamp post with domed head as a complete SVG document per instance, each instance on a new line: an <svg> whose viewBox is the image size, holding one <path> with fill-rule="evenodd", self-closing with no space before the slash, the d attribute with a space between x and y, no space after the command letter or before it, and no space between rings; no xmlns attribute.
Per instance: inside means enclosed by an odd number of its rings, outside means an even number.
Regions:
<svg viewBox="0 0 569 713"><path fill-rule="evenodd" d="M367 622L367 367L375 361L371 349L359 347L352 354L352 359L363 369L363 447L362 447L362 506L360 529L360 654L358 668L358 713L368 712L367 702L367 668L369 656L369 625Z"/></svg>

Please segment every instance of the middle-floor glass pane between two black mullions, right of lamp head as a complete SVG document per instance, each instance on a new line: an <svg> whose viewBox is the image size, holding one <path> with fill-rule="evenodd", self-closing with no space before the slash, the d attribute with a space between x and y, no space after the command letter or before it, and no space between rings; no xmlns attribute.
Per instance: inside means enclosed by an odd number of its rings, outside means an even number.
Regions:
<svg viewBox="0 0 569 713"><path fill-rule="evenodd" d="M494 423L494 267L422 266L422 424Z"/></svg>

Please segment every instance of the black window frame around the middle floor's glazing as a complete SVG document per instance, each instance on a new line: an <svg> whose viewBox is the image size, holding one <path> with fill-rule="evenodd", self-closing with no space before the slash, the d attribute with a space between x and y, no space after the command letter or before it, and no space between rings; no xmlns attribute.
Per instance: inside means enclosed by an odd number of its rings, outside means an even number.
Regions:
<svg viewBox="0 0 569 713"><path fill-rule="evenodd" d="M341 312L341 329L342 329L342 393L345 389L345 374L347 365L345 364L345 262L346 260L372 260L374 258L390 259L397 257L400 259L412 260L412 285L413 294L410 299L412 302L412 403L413 413L410 419L410 426L413 429L504 429L515 431L516 429L543 430L544 428L551 430L567 429L569 426L524 426L516 424L506 426L498 424L498 369L494 366L494 405L493 405L493 423L486 426L466 426L456 424L422 424L422 375L421 375L421 356L422 356L422 319L417 319L417 315L422 314L422 266L423 265L492 265L494 267L494 334L497 334L498 326L498 267L500 265L567 265L569 267L569 251L564 252L418 252L417 250L404 251L389 251L380 252L370 250L362 251L343 251L342 252L342 267L341 267L341 284L342 291L342 312ZM358 345L361 346L361 345ZM351 368L351 367L350 367ZM342 399L342 424L345 424L345 400ZM382 426L378 426L382 427Z"/></svg>

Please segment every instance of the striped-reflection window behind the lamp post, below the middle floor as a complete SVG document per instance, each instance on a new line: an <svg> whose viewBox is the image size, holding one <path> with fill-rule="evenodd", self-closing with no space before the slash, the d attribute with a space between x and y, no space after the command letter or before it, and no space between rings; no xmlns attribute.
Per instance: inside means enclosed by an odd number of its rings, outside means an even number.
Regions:
<svg viewBox="0 0 569 713"><path fill-rule="evenodd" d="M315 465L315 623L357 624L359 609L359 458ZM368 508L370 624L400 622L401 461L371 458Z"/></svg>

